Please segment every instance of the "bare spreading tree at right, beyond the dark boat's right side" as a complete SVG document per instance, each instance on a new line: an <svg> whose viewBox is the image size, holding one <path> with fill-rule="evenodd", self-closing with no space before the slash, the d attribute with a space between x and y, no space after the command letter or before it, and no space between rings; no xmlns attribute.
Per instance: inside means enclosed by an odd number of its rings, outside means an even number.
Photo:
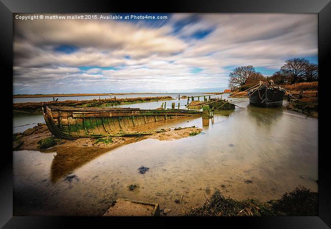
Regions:
<svg viewBox="0 0 331 229"><path fill-rule="evenodd" d="M294 58L285 61L285 64L281 67L281 72L284 75L289 75L292 78L291 84L295 80L304 78L307 73L307 66L309 61L304 58Z"/></svg>

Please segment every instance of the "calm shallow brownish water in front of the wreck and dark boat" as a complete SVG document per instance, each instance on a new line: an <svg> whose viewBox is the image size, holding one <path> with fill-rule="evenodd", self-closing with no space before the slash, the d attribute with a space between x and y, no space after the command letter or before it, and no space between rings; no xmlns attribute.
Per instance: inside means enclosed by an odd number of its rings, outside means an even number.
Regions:
<svg viewBox="0 0 331 229"><path fill-rule="evenodd" d="M161 103L129 106L155 108ZM244 110L215 113L208 126L202 126L201 118L164 122L164 127L199 126L199 135L146 139L84 164L72 162L69 170L77 179L71 183L54 166L56 152L13 152L14 215L102 215L121 197L156 202L178 215L202 206L216 189L236 199L260 201L279 198L298 184L317 191L318 119L285 107L253 107L248 99L236 104ZM144 175L137 170L142 165L150 168ZM52 179L59 173L62 178ZM130 191L130 184L139 188ZM181 195L182 204L176 204Z"/></svg>

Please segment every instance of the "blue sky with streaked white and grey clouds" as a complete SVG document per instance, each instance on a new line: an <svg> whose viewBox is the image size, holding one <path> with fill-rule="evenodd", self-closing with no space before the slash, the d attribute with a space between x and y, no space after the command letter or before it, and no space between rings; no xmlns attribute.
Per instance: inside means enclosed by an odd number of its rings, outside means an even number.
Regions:
<svg viewBox="0 0 331 229"><path fill-rule="evenodd" d="M238 66L317 63L317 14L154 16L168 18L14 19L14 94L216 92Z"/></svg>

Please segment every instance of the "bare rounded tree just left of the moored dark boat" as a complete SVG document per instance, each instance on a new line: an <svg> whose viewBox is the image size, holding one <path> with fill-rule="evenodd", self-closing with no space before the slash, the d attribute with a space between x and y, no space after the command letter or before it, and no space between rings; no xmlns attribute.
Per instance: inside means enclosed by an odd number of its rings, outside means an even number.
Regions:
<svg viewBox="0 0 331 229"><path fill-rule="evenodd" d="M247 80L256 73L257 72L252 65L235 68L235 70L229 74L229 88L235 89L245 85Z"/></svg>

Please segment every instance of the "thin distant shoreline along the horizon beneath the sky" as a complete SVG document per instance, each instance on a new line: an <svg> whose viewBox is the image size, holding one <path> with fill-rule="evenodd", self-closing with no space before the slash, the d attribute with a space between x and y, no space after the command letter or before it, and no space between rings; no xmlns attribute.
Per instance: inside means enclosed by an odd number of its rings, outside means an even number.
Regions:
<svg viewBox="0 0 331 229"><path fill-rule="evenodd" d="M178 92L171 93L157 93L157 92L137 92L137 93L111 93L111 95L140 95L140 94L177 94ZM179 92L180 93L180 92ZM180 94L185 93L195 93L195 92L181 92ZM197 92L197 94L223 94L222 92ZM48 97L73 97L73 96L108 96L109 93L101 93L101 94L36 94L36 95L13 95L13 98L48 98Z"/></svg>

